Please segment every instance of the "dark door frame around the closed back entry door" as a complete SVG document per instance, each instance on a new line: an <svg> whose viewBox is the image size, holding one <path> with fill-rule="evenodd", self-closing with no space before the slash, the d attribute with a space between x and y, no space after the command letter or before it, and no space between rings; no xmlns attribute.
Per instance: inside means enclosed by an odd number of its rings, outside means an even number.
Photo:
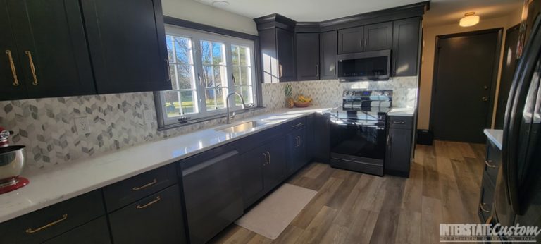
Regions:
<svg viewBox="0 0 541 244"><path fill-rule="evenodd" d="M428 128L431 131L434 131L434 114L435 114L435 90L437 87L437 66L439 64L439 55L440 51L437 48L438 44L440 42L440 39L447 39L452 37L468 37L472 35L480 35L480 34L487 34L487 33L497 33L497 40L496 40L496 51L495 51L495 60L493 64L493 71L492 71L492 82L490 85L490 98L488 99L488 103L490 104L488 107L487 115L485 116L485 127L486 128L492 128L492 114L494 114L494 102L495 102L495 94L497 89L497 81L498 81L498 73L499 73L499 61L501 59L502 54L502 38L503 38L503 31L504 28L492 28L492 29L486 29L486 30L475 30L470 32L460 32L460 33L454 33L454 34L447 34L447 35L437 35L436 36L436 42L434 46L434 71L432 75L432 93L430 97L430 121L428 121Z"/></svg>

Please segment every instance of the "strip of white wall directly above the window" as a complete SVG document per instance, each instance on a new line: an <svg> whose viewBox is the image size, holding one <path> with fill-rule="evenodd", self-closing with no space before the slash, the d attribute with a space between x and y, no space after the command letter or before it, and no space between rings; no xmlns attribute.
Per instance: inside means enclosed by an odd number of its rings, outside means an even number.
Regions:
<svg viewBox="0 0 541 244"><path fill-rule="evenodd" d="M227 30L257 35L256 23L251 18L223 11L193 0L162 0L163 14Z"/></svg>

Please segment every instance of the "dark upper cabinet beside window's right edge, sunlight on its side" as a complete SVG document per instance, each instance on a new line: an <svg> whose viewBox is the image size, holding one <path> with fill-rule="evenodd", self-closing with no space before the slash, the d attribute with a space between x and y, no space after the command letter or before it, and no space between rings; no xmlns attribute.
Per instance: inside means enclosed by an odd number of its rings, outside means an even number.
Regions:
<svg viewBox="0 0 541 244"><path fill-rule="evenodd" d="M263 82L297 80L295 22L278 14L254 19L259 32Z"/></svg>

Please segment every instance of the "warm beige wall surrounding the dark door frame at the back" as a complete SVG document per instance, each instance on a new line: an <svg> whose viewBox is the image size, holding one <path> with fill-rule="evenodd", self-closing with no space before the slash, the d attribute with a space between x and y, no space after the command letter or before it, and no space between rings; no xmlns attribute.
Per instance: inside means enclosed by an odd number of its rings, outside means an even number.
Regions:
<svg viewBox="0 0 541 244"><path fill-rule="evenodd" d="M481 18L480 22L477 25L473 25L468 28L463 28L459 26L459 20L456 20L456 24L452 25L440 25L440 26L431 26L428 28L423 28L423 59L421 64L421 87L419 91L419 114L418 114L418 126L419 129L428 129L430 123L430 102L432 99L432 83L433 83L433 71L434 71L434 53L435 53L435 40L438 35L447 35L460 32L470 32L475 30L486 30L492 28L504 28L504 35L502 39L502 50L500 53L500 64L499 70L502 66L502 59L504 56L504 41L505 41L505 31L518 24L521 20L521 9L513 11L508 16L503 16L500 18L492 19L483 19ZM497 77L497 90L495 101L495 109L497 104L497 95L499 87L499 76L500 71L498 71ZM492 125L494 124L495 113L492 116Z"/></svg>

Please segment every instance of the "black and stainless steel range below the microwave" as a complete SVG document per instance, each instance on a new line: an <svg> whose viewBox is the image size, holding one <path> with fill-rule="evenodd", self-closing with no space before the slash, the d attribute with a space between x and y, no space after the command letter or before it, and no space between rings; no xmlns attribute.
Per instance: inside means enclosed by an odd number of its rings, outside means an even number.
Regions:
<svg viewBox="0 0 541 244"><path fill-rule="evenodd" d="M344 90L330 118L330 166L383 176L390 90Z"/></svg>

